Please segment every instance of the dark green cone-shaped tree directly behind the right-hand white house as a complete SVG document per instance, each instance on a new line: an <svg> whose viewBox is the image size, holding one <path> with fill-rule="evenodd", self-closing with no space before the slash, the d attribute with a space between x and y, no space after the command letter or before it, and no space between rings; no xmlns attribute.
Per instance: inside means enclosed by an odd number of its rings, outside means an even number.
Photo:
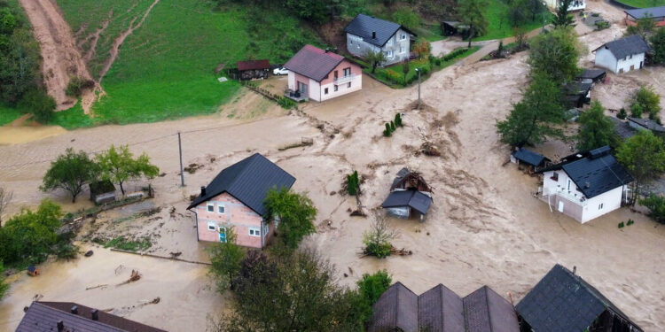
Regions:
<svg viewBox="0 0 665 332"><path fill-rule="evenodd" d="M589 151L605 145L616 145L614 123L605 116L604 112L603 105L594 100L591 108L580 114L580 119L577 120L580 124L577 150Z"/></svg>

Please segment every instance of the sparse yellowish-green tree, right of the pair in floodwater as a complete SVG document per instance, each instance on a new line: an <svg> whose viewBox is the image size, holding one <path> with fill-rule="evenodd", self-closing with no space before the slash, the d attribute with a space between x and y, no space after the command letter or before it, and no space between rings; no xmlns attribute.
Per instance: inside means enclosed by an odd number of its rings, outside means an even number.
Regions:
<svg viewBox="0 0 665 332"><path fill-rule="evenodd" d="M150 163L150 158L145 152L134 158L127 145L121 145L117 150L111 145L108 151L98 154L97 162L102 178L118 183L122 195L125 194L125 189L122 187L125 181L142 176L152 179L160 174L160 169Z"/></svg>

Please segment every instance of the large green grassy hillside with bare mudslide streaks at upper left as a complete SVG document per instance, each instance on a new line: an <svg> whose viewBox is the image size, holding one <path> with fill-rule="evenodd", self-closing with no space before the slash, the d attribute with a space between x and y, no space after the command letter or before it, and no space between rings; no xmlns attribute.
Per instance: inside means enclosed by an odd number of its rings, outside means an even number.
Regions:
<svg viewBox="0 0 665 332"><path fill-rule="evenodd" d="M113 13L90 60L96 77L113 40L134 17L140 19L152 3L58 1L77 39L84 42L84 50L90 48L85 41L99 27L97 22ZM156 4L143 26L122 44L118 58L103 78L107 96L93 107L92 122L150 122L215 112L239 90L236 82L218 82L216 67L234 66L237 60L247 58L284 63L305 43L320 44L309 28L280 8L260 13L241 5L218 11L213 8L212 3L201 0L161 0ZM67 112L72 113L66 121L68 127L76 127L80 107Z"/></svg>

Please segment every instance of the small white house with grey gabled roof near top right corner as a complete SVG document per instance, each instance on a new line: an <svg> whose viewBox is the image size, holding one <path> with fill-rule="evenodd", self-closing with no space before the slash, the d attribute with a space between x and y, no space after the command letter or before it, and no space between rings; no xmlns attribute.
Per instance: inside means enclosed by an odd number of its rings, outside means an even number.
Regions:
<svg viewBox="0 0 665 332"><path fill-rule="evenodd" d="M614 73L626 73L645 66L645 54L649 50L649 45L642 37L629 35L607 42L593 51L596 52L596 66Z"/></svg>

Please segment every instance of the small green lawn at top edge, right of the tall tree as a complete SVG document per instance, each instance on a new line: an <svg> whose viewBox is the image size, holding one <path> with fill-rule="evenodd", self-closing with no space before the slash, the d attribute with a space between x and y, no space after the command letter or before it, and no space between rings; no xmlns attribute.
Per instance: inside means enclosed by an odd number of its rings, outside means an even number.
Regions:
<svg viewBox="0 0 665 332"><path fill-rule="evenodd" d="M665 0L663 0L665 1ZM508 4L501 0L489 0L485 15L489 20L487 34L473 38L474 41L488 41L512 36L512 24L508 19ZM545 19L549 23L554 15L547 12ZM523 26L527 31L543 26L543 16L536 15L536 19Z"/></svg>

